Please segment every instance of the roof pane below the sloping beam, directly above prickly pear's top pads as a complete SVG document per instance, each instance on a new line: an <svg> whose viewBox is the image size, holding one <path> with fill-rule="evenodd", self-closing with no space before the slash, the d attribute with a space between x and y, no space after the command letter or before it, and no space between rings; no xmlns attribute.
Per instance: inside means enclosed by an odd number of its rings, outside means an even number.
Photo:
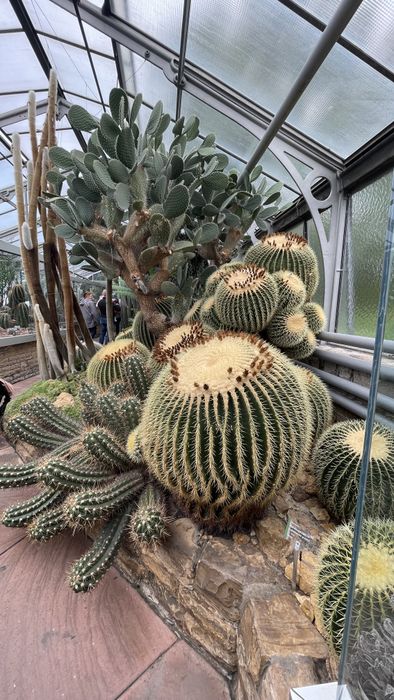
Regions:
<svg viewBox="0 0 394 700"><path fill-rule="evenodd" d="M175 117L176 87L154 66L138 54L118 44L119 56L126 76L126 90L132 95L142 92L144 101L155 105L162 100L164 109Z"/></svg>

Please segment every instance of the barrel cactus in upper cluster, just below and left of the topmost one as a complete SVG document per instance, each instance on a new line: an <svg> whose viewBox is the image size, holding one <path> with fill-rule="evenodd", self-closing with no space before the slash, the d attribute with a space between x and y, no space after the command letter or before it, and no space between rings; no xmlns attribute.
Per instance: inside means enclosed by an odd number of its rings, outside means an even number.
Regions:
<svg viewBox="0 0 394 700"><path fill-rule="evenodd" d="M214 298L216 314L224 326L257 333L275 313L278 289L266 270L242 265L222 276Z"/></svg>

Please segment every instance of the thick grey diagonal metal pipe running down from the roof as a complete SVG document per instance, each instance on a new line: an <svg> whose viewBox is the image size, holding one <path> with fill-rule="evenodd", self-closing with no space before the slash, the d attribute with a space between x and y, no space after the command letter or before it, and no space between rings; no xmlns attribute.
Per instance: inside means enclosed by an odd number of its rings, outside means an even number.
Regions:
<svg viewBox="0 0 394 700"><path fill-rule="evenodd" d="M271 141L275 138L281 126L283 126L290 112L297 104L301 95L305 92L309 83L316 75L321 64L330 53L332 47L341 36L346 25L350 22L361 3L362 0L342 0L340 6L334 13L330 22L327 24L319 41L305 63L301 73L293 83L287 97L282 102L270 125L265 131L259 145L249 158L245 166L245 170L239 176L239 185L243 182L245 175L253 170L254 166L257 165L261 157L264 155Z"/></svg>

